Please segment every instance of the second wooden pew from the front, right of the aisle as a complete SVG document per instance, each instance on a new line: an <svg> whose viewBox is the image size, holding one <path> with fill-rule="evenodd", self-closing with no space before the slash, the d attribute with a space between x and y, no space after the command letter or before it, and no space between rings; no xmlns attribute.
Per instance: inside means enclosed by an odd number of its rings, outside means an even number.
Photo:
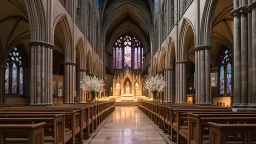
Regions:
<svg viewBox="0 0 256 144"><path fill-rule="evenodd" d="M189 112L188 133L181 132L180 134L187 139L187 143L205 143L209 140L208 121L217 123L256 123L254 119L256 119L256 112Z"/></svg>

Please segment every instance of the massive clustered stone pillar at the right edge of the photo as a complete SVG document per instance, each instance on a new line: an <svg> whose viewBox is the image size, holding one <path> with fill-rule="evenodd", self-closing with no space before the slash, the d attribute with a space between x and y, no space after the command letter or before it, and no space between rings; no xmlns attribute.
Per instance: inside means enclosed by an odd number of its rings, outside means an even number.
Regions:
<svg viewBox="0 0 256 144"><path fill-rule="evenodd" d="M256 109L256 0L234 0L232 107Z"/></svg>

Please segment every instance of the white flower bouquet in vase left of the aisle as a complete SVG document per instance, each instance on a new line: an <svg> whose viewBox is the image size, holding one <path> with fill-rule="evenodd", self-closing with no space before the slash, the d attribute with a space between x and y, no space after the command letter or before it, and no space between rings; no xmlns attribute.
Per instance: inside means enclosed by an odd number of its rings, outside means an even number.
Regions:
<svg viewBox="0 0 256 144"><path fill-rule="evenodd" d="M103 85L105 85L104 80L98 79L95 75L86 75L80 81L80 87L91 94L91 103L95 103L96 93L104 90Z"/></svg>

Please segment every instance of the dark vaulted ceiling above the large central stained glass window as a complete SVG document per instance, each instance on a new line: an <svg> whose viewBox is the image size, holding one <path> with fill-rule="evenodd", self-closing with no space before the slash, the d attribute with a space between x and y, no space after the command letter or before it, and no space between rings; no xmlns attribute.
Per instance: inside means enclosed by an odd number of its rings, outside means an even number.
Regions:
<svg viewBox="0 0 256 144"><path fill-rule="evenodd" d="M142 42L144 46L149 45L152 36L152 5L152 0L103 0L100 18L105 41L113 41L129 32L145 39L145 43ZM120 27L123 30L116 32Z"/></svg>

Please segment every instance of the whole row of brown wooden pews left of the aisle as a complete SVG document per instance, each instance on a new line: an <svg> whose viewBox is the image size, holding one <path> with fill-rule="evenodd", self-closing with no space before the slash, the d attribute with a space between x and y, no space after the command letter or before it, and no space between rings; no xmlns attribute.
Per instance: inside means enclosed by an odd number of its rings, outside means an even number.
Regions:
<svg viewBox="0 0 256 144"><path fill-rule="evenodd" d="M114 110L114 101L0 108L0 143L82 143Z"/></svg>

